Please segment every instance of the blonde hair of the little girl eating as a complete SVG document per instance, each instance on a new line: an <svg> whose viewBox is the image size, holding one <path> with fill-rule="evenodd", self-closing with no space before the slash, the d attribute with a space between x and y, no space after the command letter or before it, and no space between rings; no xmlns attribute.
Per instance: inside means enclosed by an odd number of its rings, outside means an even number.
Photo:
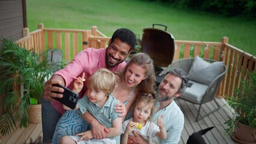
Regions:
<svg viewBox="0 0 256 144"><path fill-rule="evenodd" d="M144 94L144 93L139 93L137 97L135 98L135 101L133 103L133 110L135 109L135 106L142 101L145 103L145 106L151 105L151 113L150 116L148 117L148 121L151 121L151 119L154 116L154 107L156 106L156 95L154 93L152 94Z"/></svg>

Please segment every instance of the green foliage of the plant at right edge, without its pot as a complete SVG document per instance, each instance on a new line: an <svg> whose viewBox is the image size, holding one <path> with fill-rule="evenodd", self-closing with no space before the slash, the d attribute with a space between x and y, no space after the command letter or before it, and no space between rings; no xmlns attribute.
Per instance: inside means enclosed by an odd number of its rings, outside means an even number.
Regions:
<svg viewBox="0 0 256 144"><path fill-rule="evenodd" d="M249 73L249 79L244 80L240 88L234 89L233 97L228 98L228 104L234 109L233 118L224 124L226 134L232 135L240 123L256 129L256 73Z"/></svg>

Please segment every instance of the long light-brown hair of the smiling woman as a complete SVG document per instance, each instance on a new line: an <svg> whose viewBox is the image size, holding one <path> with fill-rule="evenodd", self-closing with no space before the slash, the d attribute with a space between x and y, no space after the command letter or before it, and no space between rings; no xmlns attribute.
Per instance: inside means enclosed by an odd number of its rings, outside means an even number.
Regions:
<svg viewBox="0 0 256 144"><path fill-rule="evenodd" d="M138 84L138 86L136 86L136 91L142 93L152 93L154 91L156 81L153 59L151 59L147 53L136 53L135 55L133 55L130 61L127 63L126 67L124 67L124 70L120 74L117 73L122 80L125 79L125 73L129 65L131 64L136 64L139 67L145 69L146 78L142 80L141 83Z"/></svg>

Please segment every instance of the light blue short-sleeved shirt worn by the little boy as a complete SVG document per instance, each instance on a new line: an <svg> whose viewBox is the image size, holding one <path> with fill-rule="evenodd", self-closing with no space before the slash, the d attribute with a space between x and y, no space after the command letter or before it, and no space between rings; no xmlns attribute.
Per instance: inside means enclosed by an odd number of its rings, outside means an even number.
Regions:
<svg viewBox="0 0 256 144"><path fill-rule="evenodd" d="M86 113L88 110L88 112L90 112L100 124L105 125L106 128L112 127L112 122L120 115L120 113L116 113L114 109L117 103L120 103L120 101L113 97L112 94L108 96L108 100L102 107L99 107L97 103L91 103L88 97L83 97L78 100L78 106L82 114ZM120 135L109 138L114 138L117 140L117 143L120 143Z"/></svg>

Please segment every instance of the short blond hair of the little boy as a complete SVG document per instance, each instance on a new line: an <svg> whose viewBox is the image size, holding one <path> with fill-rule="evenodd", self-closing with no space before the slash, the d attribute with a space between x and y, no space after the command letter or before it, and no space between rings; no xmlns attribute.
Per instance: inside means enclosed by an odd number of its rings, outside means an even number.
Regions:
<svg viewBox="0 0 256 144"><path fill-rule="evenodd" d="M88 88L103 91L106 95L113 92L115 83L115 75L106 68L96 70L87 80Z"/></svg>

